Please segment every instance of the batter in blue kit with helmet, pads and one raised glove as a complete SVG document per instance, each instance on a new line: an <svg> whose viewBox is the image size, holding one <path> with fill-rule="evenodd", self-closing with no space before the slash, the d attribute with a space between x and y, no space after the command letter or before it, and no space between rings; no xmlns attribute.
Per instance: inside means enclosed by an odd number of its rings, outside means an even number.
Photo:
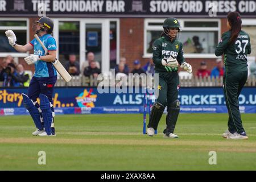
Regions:
<svg viewBox="0 0 256 182"><path fill-rule="evenodd" d="M29 111L37 128L32 135L41 137L55 136L52 94L53 87L57 81L57 72L52 64L56 58L56 41L51 35L53 22L50 18L43 16L38 21L35 21L32 28L48 49L46 54L36 38L22 46L16 44L16 36L12 30L7 30L5 34L10 45L16 51L27 52L34 49L34 54L24 58L27 64L35 64L35 73L30 81L27 95L22 94L23 104ZM40 105L36 101L38 97L40 98Z"/></svg>

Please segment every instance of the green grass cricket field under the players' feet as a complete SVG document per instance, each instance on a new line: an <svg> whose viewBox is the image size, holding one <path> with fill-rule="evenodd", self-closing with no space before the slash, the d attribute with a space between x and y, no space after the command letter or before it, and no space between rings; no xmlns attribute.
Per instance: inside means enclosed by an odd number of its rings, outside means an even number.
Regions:
<svg viewBox="0 0 256 182"><path fill-rule="evenodd" d="M248 140L227 140L228 114L180 114L175 133L142 134L142 114L57 115L56 137L33 137L30 116L0 117L1 170L256 170L256 114L242 114ZM38 152L46 152L46 165ZM210 165L209 151L217 152Z"/></svg>

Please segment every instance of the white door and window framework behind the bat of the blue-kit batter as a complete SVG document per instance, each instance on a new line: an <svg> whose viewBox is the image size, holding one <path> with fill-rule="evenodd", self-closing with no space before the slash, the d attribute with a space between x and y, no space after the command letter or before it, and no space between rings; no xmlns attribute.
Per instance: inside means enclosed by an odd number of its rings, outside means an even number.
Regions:
<svg viewBox="0 0 256 182"><path fill-rule="evenodd" d="M119 28L119 19L118 18L52 18L55 27L53 28L53 36L56 39L57 44L57 58L59 59L59 22L79 22L80 25L80 69L82 66L82 61L86 60L85 57L85 38L86 35L82 32L85 31L85 23L102 23L102 39L105 39L105 42L109 42L108 45L102 45L102 73L108 73L110 71L110 40L109 40L109 30L110 22L117 22L117 63L119 63L119 50L120 50L120 28Z"/></svg>

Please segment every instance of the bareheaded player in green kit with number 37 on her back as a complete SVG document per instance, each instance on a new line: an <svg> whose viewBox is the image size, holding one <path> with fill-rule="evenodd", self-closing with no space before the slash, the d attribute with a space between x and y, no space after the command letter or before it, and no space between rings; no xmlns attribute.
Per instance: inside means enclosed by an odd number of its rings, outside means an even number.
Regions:
<svg viewBox="0 0 256 182"><path fill-rule="evenodd" d="M228 139L248 139L242 126L238 97L247 80L247 54L251 53L249 35L241 30L241 15L231 12L227 16L229 31L222 34L215 50L216 56L224 53L224 96L228 108L228 130L222 135Z"/></svg>

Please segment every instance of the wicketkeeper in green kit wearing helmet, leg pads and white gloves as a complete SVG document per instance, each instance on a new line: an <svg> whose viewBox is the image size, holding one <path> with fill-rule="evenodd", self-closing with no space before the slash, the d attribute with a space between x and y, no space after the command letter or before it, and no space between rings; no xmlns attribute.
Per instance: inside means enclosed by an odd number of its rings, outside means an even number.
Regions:
<svg viewBox="0 0 256 182"><path fill-rule="evenodd" d="M192 73L190 64L185 63L183 57L183 46L179 42L180 23L176 18L167 18L163 22L163 32L156 39L153 49L153 61L155 73L159 74L158 91L159 96L152 106L150 119L147 125L147 134L153 136L158 128L158 123L163 111L167 106L166 129L164 137L178 138L174 134L175 125L180 111L180 101L177 100L179 91L178 66Z"/></svg>

